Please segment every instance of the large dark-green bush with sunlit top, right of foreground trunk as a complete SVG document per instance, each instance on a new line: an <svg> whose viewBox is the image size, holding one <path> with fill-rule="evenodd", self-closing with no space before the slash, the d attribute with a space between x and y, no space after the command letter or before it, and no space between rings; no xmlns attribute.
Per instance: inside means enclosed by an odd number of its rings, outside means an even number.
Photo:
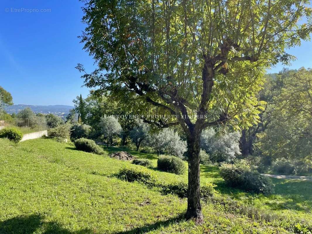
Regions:
<svg viewBox="0 0 312 234"><path fill-rule="evenodd" d="M231 187L238 187L255 193L273 193L273 184L269 178L252 171L246 164L223 163L220 175Z"/></svg>

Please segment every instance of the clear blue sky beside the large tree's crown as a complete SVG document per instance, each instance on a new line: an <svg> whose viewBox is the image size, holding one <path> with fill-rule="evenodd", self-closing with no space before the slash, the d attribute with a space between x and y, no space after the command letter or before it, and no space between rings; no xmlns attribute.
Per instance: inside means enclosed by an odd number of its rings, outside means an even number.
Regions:
<svg viewBox="0 0 312 234"><path fill-rule="evenodd" d="M15 104L73 105L80 93L86 97L75 66L82 63L87 71L94 66L77 38L85 27L81 6L78 0L0 1L0 85ZM32 9L50 12L26 12ZM289 52L297 57L291 68L312 67L312 42Z"/></svg>

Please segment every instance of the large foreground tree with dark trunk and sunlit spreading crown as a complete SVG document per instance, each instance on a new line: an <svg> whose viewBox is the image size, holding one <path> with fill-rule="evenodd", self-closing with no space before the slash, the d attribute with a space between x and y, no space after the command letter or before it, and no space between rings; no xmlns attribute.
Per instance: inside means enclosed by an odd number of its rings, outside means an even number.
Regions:
<svg viewBox="0 0 312 234"><path fill-rule="evenodd" d="M262 72L309 38L308 0L85 0L84 49L98 69L88 87L109 91L161 128L180 124L188 145L186 217L202 220L200 135L256 122ZM310 22L310 21L308 21ZM164 117L165 115L165 117ZM168 116L170 115L170 116Z"/></svg>

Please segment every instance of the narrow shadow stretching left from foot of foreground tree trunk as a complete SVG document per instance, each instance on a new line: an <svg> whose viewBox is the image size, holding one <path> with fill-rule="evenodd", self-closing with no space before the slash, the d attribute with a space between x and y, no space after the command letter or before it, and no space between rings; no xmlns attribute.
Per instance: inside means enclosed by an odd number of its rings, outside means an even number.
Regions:
<svg viewBox="0 0 312 234"><path fill-rule="evenodd" d="M166 221L159 221L159 222L156 222L154 224L149 224L149 225L146 225L146 226L143 226L143 227L137 227L137 228L134 228L134 229L129 230L129 231L115 232L115 234L146 233L146 232L150 232L150 231L153 231L153 230L157 230L157 229L162 228L162 227L168 227L168 226L170 226L172 224L175 224L177 222L181 222L183 220L185 220L185 217L184 217L184 214L181 214L178 217L171 218L171 219L168 219Z"/></svg>

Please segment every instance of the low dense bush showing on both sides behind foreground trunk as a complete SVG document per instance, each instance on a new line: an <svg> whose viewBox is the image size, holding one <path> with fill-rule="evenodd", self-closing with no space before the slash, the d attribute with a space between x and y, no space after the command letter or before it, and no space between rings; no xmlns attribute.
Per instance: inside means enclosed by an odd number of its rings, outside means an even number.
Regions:
<svg viewBox="0 0 312 234"><path fill-rule="evenodd" d="M207 183L200 187L200 197L202 200L207 200L213 197L216 193L214 187L216 185ZM184 182L175 182L170 184L163 184L160 186L163 194L175 194L178 197L184 198L188 197L188 184Z"/></svg>

